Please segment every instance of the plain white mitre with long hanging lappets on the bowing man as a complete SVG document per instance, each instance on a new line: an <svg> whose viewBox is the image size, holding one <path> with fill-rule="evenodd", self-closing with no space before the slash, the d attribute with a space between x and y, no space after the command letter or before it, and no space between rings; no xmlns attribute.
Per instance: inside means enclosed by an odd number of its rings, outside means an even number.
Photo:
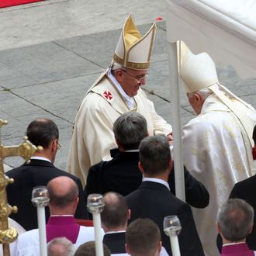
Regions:
<svg viewBox="0 0 256 256"><path fill-rule="evenodd" d="M247 133L247 138L254 146L252 140L252 132L255 123L247 116L247 108L255 112L255 109L244 102L242 99L230 92L225 86L220 85L216 67L211 57L206 53L192 54L189 47L184 42L180 41L178 45L178 63L179 74L182 78L182 83L185 85L186 92L198 92L203 88L209 88L223 102L230 111L234 112L240 124L244 127ZM221 90L220 90L221 88ZM241 108L237 104L241 102L245 107Z"/></svg>

